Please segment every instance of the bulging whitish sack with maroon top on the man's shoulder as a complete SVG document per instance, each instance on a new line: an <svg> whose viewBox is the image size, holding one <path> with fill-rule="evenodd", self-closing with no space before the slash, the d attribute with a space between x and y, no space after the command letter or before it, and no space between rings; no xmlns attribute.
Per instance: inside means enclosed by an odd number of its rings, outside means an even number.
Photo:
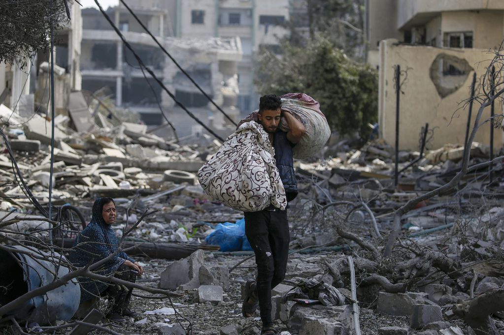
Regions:
<svg viewBox="0 0 504 335"><path fill-rule="evenodd" d="M326 145L331 129L327 119L320 111L320 104L304 93L289 93L280 97L282 110L290 112L305 128L305 134L292 149L294 158L303 159L313 156ZM250 113L238 123L238 127L249 121L257 121L259 110ZM289 131L287 122L282 118L279 129Z"/></svg>

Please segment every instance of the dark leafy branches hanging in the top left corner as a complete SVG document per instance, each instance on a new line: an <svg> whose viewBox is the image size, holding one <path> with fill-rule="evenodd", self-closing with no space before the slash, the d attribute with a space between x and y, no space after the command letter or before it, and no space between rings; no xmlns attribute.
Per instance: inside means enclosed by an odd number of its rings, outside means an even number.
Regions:
<svg viewBox="0 0 504 335"><path fill-rule="evenodd" d="M54 30L68 23L63 0L0 0L0 62L33 57L49 48L51 21Z"/></svg>

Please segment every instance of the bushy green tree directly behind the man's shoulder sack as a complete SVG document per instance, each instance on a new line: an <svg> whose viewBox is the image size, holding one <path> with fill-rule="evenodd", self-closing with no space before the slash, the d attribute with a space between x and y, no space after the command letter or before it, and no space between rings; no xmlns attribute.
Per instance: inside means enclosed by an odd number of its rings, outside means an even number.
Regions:
<svg viewBox="0 0 504 335"><path fill-rule="evenodd" d="M263 50L256 85L260 94L302 92L321 105L333 131L369 137L368 123L377 120L376 71L350 59L325 38L304 47L282 44L283 54Z"/></svg>

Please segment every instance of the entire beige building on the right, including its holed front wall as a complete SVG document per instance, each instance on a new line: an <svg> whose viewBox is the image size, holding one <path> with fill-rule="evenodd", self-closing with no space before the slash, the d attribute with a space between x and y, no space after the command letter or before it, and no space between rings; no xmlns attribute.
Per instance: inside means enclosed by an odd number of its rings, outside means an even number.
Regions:
<svg viewBox="0 0 504 335"><path fill-rule="evenodd" d="M419 136L411 134L420 134L425 123L434 130L429 149L463 144L468 115L464 101L470 97L473 73L482 77L493 58L489 50L498 49L504 38L504 3L373 0L366 6L368 62L379 69L381 136L395 142L394 67L400 65L407 72L400 98L400 148L417 149ZM473 111L479 107L475 102ZM482 120L490 117L489 110ZM496 106L495 113L500 111ZM494 132L496 150L503 139L501 130ZM476 141L489 143L488 123Z"/></svg>

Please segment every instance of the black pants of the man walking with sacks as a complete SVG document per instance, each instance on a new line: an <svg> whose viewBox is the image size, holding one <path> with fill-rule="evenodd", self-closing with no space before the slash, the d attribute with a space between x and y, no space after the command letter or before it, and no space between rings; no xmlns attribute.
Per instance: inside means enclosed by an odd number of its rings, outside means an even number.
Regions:
<svg viewBox="0 0 504 335"><path fill-rule="evenodd" d="M244 214L245 235L256 254L261 320L263 325L271 325L271 290L284 280L287 271L290 241L287 210Z"/></svg>

